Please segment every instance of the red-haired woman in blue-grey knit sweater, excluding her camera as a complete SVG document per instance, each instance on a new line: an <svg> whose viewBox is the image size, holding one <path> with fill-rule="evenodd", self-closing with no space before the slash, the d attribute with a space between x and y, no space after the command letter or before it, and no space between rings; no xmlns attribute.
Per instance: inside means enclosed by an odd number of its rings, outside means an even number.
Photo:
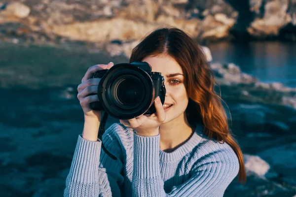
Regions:
<svg viewBox="0 0 296 197"><path fill-rule="evenodd" d="M97 139L101 112L89 103L98 101L90 96L99 83L92 73L113 63L90 67L77 88L85 122L65 196L222 197L237 174L244 182L242 152L195 41L176 28L158 29L133 49L130 62L135 61L164 76L164 105L156 98L155 114L111 125L103 141L112 159Z"/></svg>

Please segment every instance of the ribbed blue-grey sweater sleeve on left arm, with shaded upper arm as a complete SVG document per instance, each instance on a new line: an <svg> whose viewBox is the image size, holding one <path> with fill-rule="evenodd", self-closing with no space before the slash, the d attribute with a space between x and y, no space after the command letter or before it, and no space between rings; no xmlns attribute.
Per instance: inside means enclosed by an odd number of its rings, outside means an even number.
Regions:
<svg viewBox="0 0 296 197"><path fill-rule="evenodd" d="M114 126L113 126L114 127ZM101 149L102 141L88 141L78 136L64 197L120 197L123 185L122 158L112 126L103 135L106 149L114 160Z"/></svg>

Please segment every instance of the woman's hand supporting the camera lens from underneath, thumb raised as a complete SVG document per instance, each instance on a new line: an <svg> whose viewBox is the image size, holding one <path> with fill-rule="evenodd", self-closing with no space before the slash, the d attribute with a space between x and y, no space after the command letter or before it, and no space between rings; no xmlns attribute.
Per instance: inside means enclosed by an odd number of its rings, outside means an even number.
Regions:
<svg viewBox="0 0 296 197"><path fill-rule="evenodd" d="M165 112L162 103L157 97L154 100L156 113L150 116L141 115L129 120L120 120L120 123L126 127L132 128L136 134L142 136L155 136L159 133L159 126L165 121Z"/></svg>

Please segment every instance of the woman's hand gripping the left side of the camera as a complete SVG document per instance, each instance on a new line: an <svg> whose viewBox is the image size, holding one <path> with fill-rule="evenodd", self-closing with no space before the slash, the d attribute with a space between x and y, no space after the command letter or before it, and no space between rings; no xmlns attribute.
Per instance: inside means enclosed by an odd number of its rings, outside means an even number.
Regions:
<svg viewBox="0 0 296 197"><path fill-rule="evenodd" d="M77 87L77 98L80 101L80 105L84 112L85 119L97 119L101 121L101 111L92 110L89 107L91 102L99 101L98 98L98 85L100 78L92 78L96 71L110 69L114 64L111 62L108 65L95 65L88 68L84 77L81 80L81 84Z"/></svg>

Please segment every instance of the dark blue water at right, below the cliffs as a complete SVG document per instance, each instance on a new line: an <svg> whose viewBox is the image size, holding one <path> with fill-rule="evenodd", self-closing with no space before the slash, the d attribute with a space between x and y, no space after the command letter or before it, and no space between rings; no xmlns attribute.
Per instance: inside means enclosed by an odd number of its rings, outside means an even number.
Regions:
<svg viewBox="0 0 296 197"><path fill-rule="evenodd" d="M296 87L296 43L222 42L208 47L214 62L232 62L262 82L281 82Z"/></svg>

